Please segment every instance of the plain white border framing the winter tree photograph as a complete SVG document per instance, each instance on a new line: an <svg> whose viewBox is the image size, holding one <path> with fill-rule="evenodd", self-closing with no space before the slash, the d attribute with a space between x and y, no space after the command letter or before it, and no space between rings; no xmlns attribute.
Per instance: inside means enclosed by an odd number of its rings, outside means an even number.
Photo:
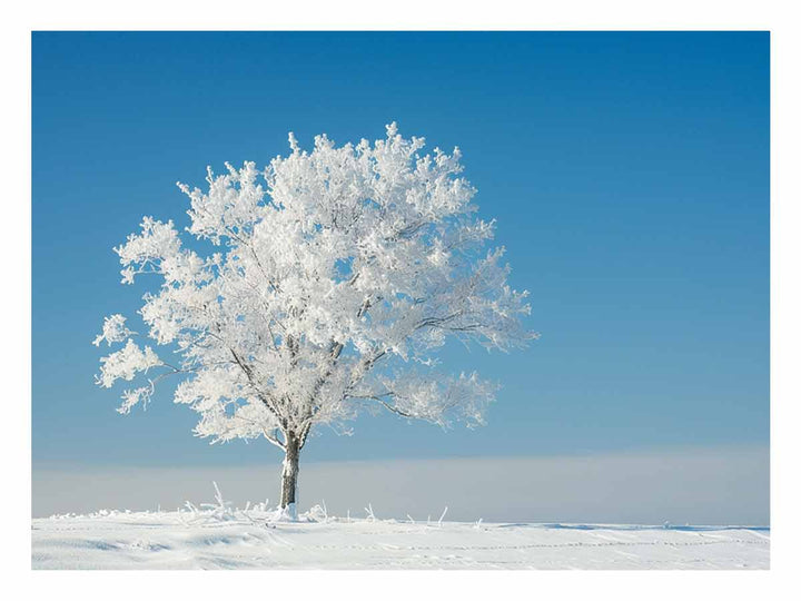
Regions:
<svg viewBox="0 0 801 601"><path fill-rule="evenodd" d="M784 7L784 8L782 8ZM798 486L798 359L793 342L801 334L795 312L799 226L799 21L789 2L689 1L649 4L635 1L573 1L530 6L496 0L483 8L461 3L409 0L380 6L373 0L344 3L322 1L269 6L247 0L235 6L144 0L139 2L32 1L3 24L2 111L3 165L11 190L6 196L7 231L1 257L2 315L11 323L3 345L7 431L2 456L8 471L3 508L7 518L3 571L14 583L6 590L30 599L56 597L70 590L85 599L139 599L157 593L201 599L234 592L257 597L339 597L349 600L406 598L409 594L457 598L614 595L620 599L673 599L725 595L726 599L781 599L798 589L795 546L801 506ZM38 572L30 569L30 32L31 30L770 30L771 31L771 526L772 568L764 572L197 572L119 573ZM27 117L27 118L23 118ZM20 258L21 257L21 258ZM8 273L10 272L10 274ZM28 427L21 427L26 423ZM22 457L21 461L14 461ZM27 482L27 484L26 484ZM22 491L22 492L20 492ZM236 581L234 581L236 579ZM791 580L792 579L792 580ZM794 587L793 587L794 582ZM16 587L14 587L16 584ZM245 584L248 589L241 588ZM787 585L785 585L787 584ZM13 588L12 588L13 587ZM231 587L236 587L233 589ZM253 589L249 589L253 587ZM24 592L22 592L24 591ZM253 591L253 592L250 592ZM789 591L789 592L784 592ZM240 594L241 594L240 592Z"/></svg>

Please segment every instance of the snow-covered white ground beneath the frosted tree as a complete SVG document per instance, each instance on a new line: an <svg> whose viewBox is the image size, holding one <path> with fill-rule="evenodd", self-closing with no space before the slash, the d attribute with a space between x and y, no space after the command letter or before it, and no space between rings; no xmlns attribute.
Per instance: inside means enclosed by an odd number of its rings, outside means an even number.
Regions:
<svg viewBox="0 0 801 601"><path fill-rule="evenodd" d="M34 569L767 569L764 528L275 521L264 506L32 521Z"/></svg>

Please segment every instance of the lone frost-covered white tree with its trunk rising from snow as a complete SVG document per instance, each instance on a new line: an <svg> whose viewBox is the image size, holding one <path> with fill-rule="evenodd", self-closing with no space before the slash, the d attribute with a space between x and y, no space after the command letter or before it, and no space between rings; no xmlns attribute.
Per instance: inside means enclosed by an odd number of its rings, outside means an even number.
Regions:
<svg viewBox="0 0 801 601"><path fill-rule="evenodd" d="M436 351L448 336L507 351L536 335L522 325L527 293L507 286L503 248L484 249L494 223L475 216L458 148L419 156L424 144L395 124L373 145L317 136L310 152L289 134L291 154L265 170L226 164L225 175L207 169L208 191L178 184L187 231L219 252L201 256L171 220L151 217L115 248L122 283L160 280L139 313L178 356L164 361L134 342L125 317L107 317L95 345L125 345L100 359L97 383L149 376L118 411L180 376L175 402L200 414L197 435L264 436L284 451L281 508L296 501L315 425L342 427L370 405L444 427L482 424L496 386L437 373Z"/></svg>

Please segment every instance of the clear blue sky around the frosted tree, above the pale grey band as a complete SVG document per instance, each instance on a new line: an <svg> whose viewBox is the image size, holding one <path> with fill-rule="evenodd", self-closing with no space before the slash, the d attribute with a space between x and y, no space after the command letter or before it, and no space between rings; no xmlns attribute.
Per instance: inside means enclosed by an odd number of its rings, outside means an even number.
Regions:
<svg viewBox="0 0 801 601"><path fill-rule="evenodd" d="M767 444L769 35L33 33L33 464L278 462L210 447L169 387L115 412L102 317L132 315L111 247L185 224L207 165L406 136L464 152L542 338L448 348L503 390L488 425L364 416L304 460Z"/></svg>

